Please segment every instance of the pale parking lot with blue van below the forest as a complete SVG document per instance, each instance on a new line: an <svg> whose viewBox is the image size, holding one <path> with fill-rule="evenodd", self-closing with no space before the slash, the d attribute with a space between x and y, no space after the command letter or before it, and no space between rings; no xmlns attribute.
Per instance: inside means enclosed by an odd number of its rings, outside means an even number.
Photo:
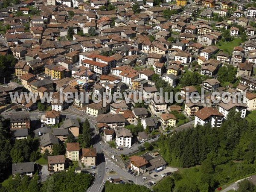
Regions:
<svg viewBox="0 0 256 192"><path fill-rule="evenodd" d="M172 168L172 167L166 167L165 169L163 169L160 172L152 172L151 174L149 174L148 172L146 172L145 174L143 174L141 177L147 177L147 179L143 180L144 183L148 183L151 181L154 181L155 183L159 182L160 180L163 179L163 177L161 177L161 175L165 175L168 172L177 172L178 169L177 168ZM166 176L165 176L166 177Z"/></svg>

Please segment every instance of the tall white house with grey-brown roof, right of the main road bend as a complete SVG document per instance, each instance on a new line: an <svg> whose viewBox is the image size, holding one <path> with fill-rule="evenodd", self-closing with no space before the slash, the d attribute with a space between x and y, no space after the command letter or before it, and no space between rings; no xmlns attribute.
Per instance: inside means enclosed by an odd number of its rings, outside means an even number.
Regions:
<svg viewBox="0 0 256 192"><path fill-rule="evenodd" d="M118 147L131 147L131 140L133 138L131 131L122 128L115 131L116 133L116 146Z"/></svg>

